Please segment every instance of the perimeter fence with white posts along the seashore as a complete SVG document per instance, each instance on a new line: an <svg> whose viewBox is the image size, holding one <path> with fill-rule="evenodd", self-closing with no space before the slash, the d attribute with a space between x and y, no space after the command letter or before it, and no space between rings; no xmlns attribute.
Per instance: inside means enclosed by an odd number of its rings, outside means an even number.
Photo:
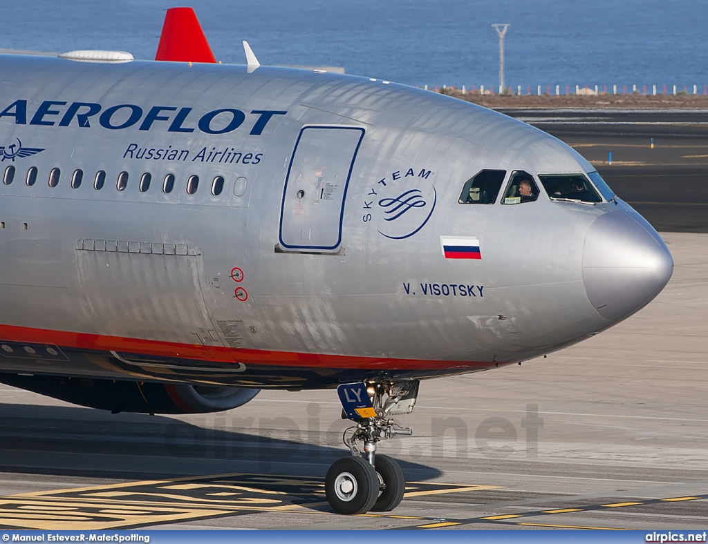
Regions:
<svg viewBox="0 0 708 544"><path fill-rule="evenodd" d="M445 92L446 90L460 90L462 94L472 93L476 95L586 95L586 96L598 96L598 95L707 95L708 85L575 85L574 89L572 85L565 85L563 88L561 85L526 85L523 88L522 85L509 85L508 88L504 88L501 93L494 91L494 85L489 85L485 87L484 85L472 85L472 88L467 88L466 85L462 85L462 88L457 88L455 85L433 85L430 88L425 85L423 88L426 90L433 90L435 93ZM525 91L525 92L524 92ZM565 91L565 92L562 92ZM573 92L574 91L574 92ZM701 93L702 91L702 93Z"/></svg>

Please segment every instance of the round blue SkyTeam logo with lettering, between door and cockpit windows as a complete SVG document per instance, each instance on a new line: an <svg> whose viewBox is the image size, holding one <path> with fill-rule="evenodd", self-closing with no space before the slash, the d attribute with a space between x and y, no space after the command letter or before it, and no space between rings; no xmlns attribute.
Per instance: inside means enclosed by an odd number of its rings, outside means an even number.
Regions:
<svg viewBox="0 0 708 544"><path fill-rule="evenodd" d="M438 203L432 175L426 168L411 167L380 179L364 201L364 223L375 221L379 234L392 240L415 235L426 226Z"/></svg>

